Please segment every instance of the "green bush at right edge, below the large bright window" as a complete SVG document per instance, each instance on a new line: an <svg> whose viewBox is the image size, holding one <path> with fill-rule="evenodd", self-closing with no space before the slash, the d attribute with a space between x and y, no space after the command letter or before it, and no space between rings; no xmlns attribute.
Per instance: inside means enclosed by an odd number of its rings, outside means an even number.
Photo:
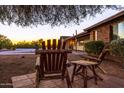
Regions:
<svg viewBox="0 0 124 93"><path fill-rule="evenodd" d="M124 39L113 40L110 49L113 55L124 57Z"/></svg>

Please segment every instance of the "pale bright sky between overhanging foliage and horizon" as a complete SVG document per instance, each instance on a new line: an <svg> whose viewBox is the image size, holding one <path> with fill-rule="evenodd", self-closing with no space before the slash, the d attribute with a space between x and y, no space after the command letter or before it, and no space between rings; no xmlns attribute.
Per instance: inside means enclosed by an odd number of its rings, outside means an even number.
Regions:
<svg viewBox="0 0 124 93"><path fill-rule="evenodd" d="M3 25L0 23L0 34L7 36L12 42L17 41L32 41L38 39L59 39L60 36L73 36L75 31L77 33L83 32L83 29L102 21L120 11L117 10L106 10L103 14L97 14L95 17L90 17L84 19L80 25L71 24L67 27L55 26L51 27L49 25L38 25L37 27L21 27L12 25Z"/></svg>

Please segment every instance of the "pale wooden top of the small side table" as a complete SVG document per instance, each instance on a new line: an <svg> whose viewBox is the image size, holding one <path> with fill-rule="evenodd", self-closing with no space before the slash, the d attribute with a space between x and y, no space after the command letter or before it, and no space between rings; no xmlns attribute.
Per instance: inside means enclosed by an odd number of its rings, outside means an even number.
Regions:
<svg viewBox="0 0 124 93"><path fill-rule="evenodd" d="M89 65L97 65L97 62L93 61L87 61L87 60L77 60L77 61L71 61L72 64L78 64L78 65L84 65L84 66L89 66Z"/></svg>

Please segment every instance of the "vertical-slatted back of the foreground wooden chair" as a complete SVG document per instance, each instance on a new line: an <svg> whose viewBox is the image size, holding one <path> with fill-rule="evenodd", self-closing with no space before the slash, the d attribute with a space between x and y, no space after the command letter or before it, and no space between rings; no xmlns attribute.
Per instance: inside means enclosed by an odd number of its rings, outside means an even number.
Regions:
<svg viewBox="0 0 124 93"><path fill-rule="evenodd" d="M48 51L41 54L42 72L49 74L62 72L66 65L67 53L60 50L65 49L65 44L61 40L58 40L57 44L55 39L53 39L52 44L51 40L47 40L47 44L45 41L42 42L42 51Z"/></svg>

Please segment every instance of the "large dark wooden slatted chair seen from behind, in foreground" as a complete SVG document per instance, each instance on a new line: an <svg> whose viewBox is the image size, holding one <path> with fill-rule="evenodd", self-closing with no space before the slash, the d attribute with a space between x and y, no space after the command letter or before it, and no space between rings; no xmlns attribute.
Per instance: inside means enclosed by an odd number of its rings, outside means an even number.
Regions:
<svg viewBox="0 0 124 93"><path fill-rule="evenodd" d="M69 50L65 50L65 42L58 40L58 44L53 39L47 40L47 46L45 41L42 42L42 49L37 50L36 63L36 87L38 87L41 80L45 79L62 79L66 78L67 86L71 86L68 70L67 70L67 53L71 53Z"/></svg>

